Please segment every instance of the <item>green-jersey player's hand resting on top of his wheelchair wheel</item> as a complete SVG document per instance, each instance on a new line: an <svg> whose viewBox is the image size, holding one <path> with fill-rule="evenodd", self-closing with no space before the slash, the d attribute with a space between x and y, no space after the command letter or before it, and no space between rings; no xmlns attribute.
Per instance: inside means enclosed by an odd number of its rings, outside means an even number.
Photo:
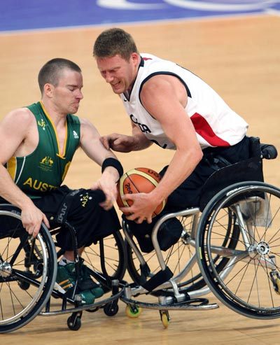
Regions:
<svg viewBox="0 0 280 345"><path fill-rule="evenodd" d="M47 227L50 227L48 218L33 203L22 208L22 225L32 237L35 238L37 236L42 222Z"/></svg>

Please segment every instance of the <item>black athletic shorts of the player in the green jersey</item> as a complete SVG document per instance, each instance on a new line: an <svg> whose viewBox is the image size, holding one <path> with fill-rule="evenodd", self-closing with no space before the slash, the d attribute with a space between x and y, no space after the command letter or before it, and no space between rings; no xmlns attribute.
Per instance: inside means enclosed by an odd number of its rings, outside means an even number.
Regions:
<svg viewBox="0 0 280 345"><path fill-rule="evenodd" d="M57 222L57 212L67 204L67 222L76 231L78 248L90 246L109 234L120 230L120 221L115 209L105 211L99 203L104 201L101 190L70 190L66 185L48 192L43 197L32 199L34 204L47 216L50 227L61 227L57 234L57 244L65 251L73 250L73 240L69 229ZM69 193L73 197L67 197ZM3 199L1 202L5 202Z"/></svg>

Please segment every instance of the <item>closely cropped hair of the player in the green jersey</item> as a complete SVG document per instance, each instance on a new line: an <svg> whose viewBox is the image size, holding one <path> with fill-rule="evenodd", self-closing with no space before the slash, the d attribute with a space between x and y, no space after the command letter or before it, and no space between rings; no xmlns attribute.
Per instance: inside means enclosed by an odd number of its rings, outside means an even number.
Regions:
<svg viewBox="0 0 280 345"><path fill-rule="evenodd" d="M50 83L54 86L58 85L60 72L63 69L70 69L71 71L76 71L81 73L80 67L68 59L63 59L62 57L56 57L46 62L38 73L38 84L43 94L43 88L45 84Z"/></svg>

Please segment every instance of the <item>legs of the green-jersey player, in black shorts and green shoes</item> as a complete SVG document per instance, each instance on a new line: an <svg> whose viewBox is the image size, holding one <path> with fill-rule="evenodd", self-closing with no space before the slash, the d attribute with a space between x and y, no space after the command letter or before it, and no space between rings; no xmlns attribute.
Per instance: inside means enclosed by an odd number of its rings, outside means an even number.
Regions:
<svg viewBox="0 0 280 345"><path fill-rule="evenodd" d="M64 291L71 293L78 281L78 290L85 304L92 304L95 298L103 295L104 291L98 282L92 280L90 269L80 255L83 255L85 247L120 229L116 211L114 209L105 211L99 205L103 199L104 194L100 190L70 191L64 187L45 197L44 205L41 202L41 209L48 210L46 214L52 225L67 221L75 230L74 240L69 228L63 224L57 234L57 245L64 251L57 269L57 283ZM55 205L55 212L54 209L50 210L50 204L52 208ZM76 246L80 254L78 269L76 269L73 246Z"/></svg>

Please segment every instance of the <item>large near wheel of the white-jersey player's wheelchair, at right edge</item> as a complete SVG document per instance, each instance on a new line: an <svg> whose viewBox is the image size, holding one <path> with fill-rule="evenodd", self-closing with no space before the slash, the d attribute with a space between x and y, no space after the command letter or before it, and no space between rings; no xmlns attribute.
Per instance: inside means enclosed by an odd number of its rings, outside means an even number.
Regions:
<svg viewBox="0 0 280 345"><path fill-rule="evenodd" d="M229 210L239 229L235 248L221 245ZM197 258L205 281L223 304L251 318L280 316L280 190L246 182L216 195L202 213ZM218 260L226 262L218 271Z"/></svg>

